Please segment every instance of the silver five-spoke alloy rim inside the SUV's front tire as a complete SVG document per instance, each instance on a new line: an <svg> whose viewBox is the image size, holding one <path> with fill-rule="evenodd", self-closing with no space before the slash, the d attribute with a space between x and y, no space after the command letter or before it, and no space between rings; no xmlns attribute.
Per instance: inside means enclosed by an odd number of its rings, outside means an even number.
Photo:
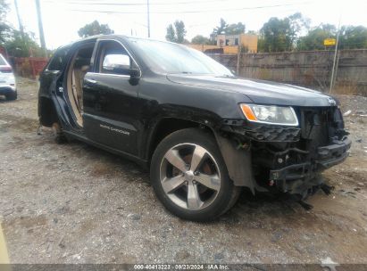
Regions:
<svg viewBox="0 0 367 271"><path fill-rule="evenodd" d="M178 144L160 167L164 193L180 208L204 209L221 190L221 173L213 155L198 144Z"/></svg>

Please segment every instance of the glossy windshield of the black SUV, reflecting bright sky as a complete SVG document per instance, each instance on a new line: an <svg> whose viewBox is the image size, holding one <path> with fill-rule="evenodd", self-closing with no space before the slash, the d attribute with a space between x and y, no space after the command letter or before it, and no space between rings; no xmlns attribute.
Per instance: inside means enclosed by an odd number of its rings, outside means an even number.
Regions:
<svg viewBox="0 0 367 271"><path fill-rule="evenodd" d="M214 74L233 76L223 65L211 57L184 45L162 41L129 38L152 70L164 73Z"/></svg>

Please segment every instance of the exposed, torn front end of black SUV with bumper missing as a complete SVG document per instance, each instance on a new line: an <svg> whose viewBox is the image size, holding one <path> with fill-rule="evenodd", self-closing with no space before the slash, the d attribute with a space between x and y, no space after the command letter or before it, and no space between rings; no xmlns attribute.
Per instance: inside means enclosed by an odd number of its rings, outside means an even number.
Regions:
<svg viewBox="0 0 367 271"><path fill-rule="evenodd" d="M338 107L298 108L297 113L301 119L299 127L224 120L221 131L232 143L222 144L219 137L220 145L224 145L221 151L227 152L228 145L247 146L246 151L232 148L230 152L237 154L231 160L223 154L229 176L236 177L235 185L256 191L296 194L304 199L315 188L322 187L322 170L346 160L351 141L346 137L348 133ZM246 153L245 160L238 158L241 152ZM245 163L251 166L244 166ZM246 181L241 182L241 178Z"/></svg>

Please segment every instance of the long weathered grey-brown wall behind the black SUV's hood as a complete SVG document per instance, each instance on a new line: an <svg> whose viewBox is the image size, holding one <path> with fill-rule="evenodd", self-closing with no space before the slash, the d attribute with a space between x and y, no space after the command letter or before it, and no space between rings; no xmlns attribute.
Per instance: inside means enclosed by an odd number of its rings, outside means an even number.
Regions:
<svg viewBox="0 0 367 271"><path fill-rule="evenodd" d="M213 55L230 70L237 69L237 55ZM333 51L295 53L245 53L239 62L239 75L329 89ZM335 91L367 95L367 50L343 50L338 53Z"/></svg>

